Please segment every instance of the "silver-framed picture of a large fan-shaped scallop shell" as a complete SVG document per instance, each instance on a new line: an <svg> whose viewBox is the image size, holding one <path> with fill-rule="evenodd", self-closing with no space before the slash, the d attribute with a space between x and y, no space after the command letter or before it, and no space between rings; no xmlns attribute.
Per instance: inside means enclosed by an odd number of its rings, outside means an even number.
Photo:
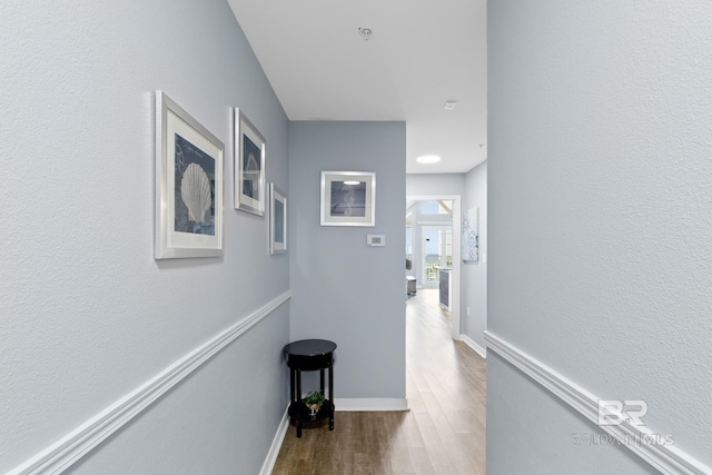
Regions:
<svg viewBox="0 0 712 475"><path fill-rule="evenodd" d="M222 255L224 149L156 91L156 259Z"/></svg>

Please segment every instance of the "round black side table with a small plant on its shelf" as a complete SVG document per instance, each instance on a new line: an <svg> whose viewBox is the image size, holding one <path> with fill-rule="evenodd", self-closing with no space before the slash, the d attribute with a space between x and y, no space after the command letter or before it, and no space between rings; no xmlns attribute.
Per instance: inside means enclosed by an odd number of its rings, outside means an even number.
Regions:
<svg viewBox="0 0 712 475"><path fill-rule="evenodd" d="M297 426L297 437L301 437L303 420L320 420L329 418L329 431L334 431L334 350L336 344L326 339L301 339L285 346L287 366L289 366L289 418ZM324 370L329 370L329 394L319 410L310 415L301 402L301 372L320 373L320 390L324 396Z"/></svg>

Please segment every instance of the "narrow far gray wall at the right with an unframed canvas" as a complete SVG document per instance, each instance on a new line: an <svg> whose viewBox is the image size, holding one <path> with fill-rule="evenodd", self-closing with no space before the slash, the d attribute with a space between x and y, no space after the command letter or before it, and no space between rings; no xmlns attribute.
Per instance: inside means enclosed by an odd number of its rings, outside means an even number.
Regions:
<svg viewBox="0 0 712 475"><path fill-rule="evenodd" d="M463 204L463 214L472 208L478 209L479 218L479 259L477 263L463 263L463 306L461 333L467 335L482 349L485 348L484 331L487 329L487 162L478 165L465 175L467 190ZM467 315L469 307L469 315Z"/></svg>

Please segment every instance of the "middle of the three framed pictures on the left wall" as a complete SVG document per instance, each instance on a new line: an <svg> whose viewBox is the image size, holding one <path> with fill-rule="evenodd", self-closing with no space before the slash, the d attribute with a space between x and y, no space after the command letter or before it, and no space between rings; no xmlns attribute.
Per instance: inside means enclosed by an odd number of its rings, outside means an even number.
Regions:
<svg viewBox="0 0 712 475"><path fill-rule="evenodd" d="M265 138L235 108L235 209L265 216Z"/></svg>

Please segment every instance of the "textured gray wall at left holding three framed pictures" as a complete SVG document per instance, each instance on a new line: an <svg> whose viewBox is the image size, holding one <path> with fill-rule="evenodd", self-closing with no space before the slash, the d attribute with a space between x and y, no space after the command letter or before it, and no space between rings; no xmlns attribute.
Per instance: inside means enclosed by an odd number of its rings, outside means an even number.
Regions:
<svg viewBox="0 0 712 475"><path fill-rule="evenodd" d="M0 17L4 473L288 290L266 219L230 207L230 107L266 137L285 191L288 122L222 0L8 0ZM156 89L226 144L224 258L154 260ZM286 407L288 318L283 306L79 472L256 473Z"/></svg>

